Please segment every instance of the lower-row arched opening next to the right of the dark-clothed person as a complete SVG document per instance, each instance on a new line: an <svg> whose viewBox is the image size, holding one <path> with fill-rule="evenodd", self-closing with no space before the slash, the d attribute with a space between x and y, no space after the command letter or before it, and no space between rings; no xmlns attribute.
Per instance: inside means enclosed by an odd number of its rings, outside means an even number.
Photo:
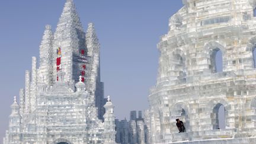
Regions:
<svg viewBox="0 0 256 144"><path fill-rule="evenodd" d="M213 129L225 129L226 123L225 123L225 107L223 104L216 104L213 108L213 114L212 114L212 124Z"/></svg>

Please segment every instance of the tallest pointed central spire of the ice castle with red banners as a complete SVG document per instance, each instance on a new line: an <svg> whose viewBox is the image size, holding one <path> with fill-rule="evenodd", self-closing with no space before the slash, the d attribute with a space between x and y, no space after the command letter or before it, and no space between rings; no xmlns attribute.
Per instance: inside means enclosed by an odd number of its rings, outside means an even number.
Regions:
<svg viewBox="0 0 256 144"><path fill-rule="evenodd" d="M85 49L85 33L78 13L76 12L73 1L66 1L62 14L57 24L55 39L53 44L53 60L56 60L56 49L62 50L62 71L66 73L64 81L72 82L73 79L78 81L79 75L77 69L73 69L73 54L78 54L81 49ZM56 69L56 63L53 62L53 69ZM53 71L53 78L56 78L56 71Z"/></svg>

